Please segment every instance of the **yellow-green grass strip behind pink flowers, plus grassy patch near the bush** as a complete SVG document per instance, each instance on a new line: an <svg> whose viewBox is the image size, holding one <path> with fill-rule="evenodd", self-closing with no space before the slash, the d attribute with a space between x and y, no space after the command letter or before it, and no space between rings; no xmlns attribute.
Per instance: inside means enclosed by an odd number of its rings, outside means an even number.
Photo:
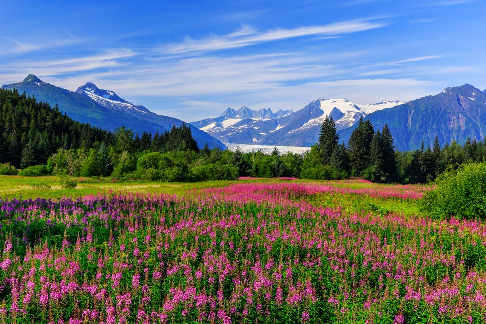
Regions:
<svg viewBox="0 0 486 324"><path fill-rule="evenodd" d="M194 190L204 188L220 188L236 183L309 183L308 180L299 179L267 179L243 178L238 181L205 181L193 183L167 183L153 181L114 181L112 179L74 178L77 186L74 189L65 189L61 186L58 176L21 177L0 175L0 198L3 199L44 199L60 200L63 197L83 197L87 195L108 193L149 193L170 194L186 196ZM329 192L314 196L311 200L315 204L326 206L346 206L348 210L370 211L386 214L389 212L404 213L408 215L419 214L420 210L415 199L384 199L372 197L368 194L359 194L360 190L382 190L393 192L416 191L423 192L429 187L422 185L399 186L380 185L362 180L343 181L311 181L310 183L329 186ZM355 193L340 192L339 189L355 191ZM365 192L364 192L365 193Z"/></svg>

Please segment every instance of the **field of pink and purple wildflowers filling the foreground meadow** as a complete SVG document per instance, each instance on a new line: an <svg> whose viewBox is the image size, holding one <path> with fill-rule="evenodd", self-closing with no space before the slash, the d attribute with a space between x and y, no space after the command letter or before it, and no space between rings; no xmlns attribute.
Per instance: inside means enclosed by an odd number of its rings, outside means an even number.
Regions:
<svg viewBox="0 0 486 324"><path fill-rule="evenodd" d="M2 323L484 323L486 226L426 186L0 198Z"/></svg>

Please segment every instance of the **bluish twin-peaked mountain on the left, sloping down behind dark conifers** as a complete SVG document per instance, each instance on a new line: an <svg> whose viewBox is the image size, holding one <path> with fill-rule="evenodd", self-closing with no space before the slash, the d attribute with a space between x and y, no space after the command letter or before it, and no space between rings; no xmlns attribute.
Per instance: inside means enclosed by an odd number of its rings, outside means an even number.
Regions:
<svg viewBox="0 0 486 324"><path fill-rule="evenodd" d="M86 83L73 92L43 82L30 74L22 82L3 85L2 88L16 88L20 93L25 92L53 107L57 104L72 119L105 130L113 131L125 126L140 135L143 131L155 134L184 123L176 118L157 115L143 106L133 105L118 97L115 92L98 89L92 83ZM225 148L219 140L195 127L192 128L192 135L200 147L208 143L210 148Z"/></svg>

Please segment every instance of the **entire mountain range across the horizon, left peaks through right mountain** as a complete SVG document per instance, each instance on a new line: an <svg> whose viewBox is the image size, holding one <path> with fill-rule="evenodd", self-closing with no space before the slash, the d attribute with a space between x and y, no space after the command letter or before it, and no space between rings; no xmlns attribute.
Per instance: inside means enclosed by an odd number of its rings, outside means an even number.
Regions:
<svg viewBox="0 0 486 324"><path fill-rule="evenodd" d="M51 106L58 105L74 120L106 130L125 126L140 135L143 131L155 134L184 123L133 105L114 91L99 89L89 82L73 92L30 74L22 82L2 88L16 88ZM325 116L335 121L340 142L347 143L363 118L371 121L375 130L387 124L400 151L418 149L422 143L429 147L435 137L441 145L452 141L464 144L467 138L480 141L486 136L486 90L464 84L406 103L382 101L371 105L355 104L344 98L319 98L295 112L227 108L218 117L190 124L200 147L206 143L210 148L221 149L226 148L225 144L310 147L318 140Z"/></svg>

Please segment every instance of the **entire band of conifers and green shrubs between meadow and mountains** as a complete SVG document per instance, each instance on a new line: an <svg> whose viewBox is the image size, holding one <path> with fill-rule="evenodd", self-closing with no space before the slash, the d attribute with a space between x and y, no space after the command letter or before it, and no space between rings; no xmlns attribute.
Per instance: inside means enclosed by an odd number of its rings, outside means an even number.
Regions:
<svg viewBox="0 0 486 324"><path fill-rule="evenodd" d="M198 147L190 127L141 135L125 127L109 132L73 121L57 106L37 102L16 90L0 90L0 174L58 174L161 181L200 181L251 177L347 179L425 183L450 166L484 161L486 142L468 140L399 152L385 125L375 130L360 119L347 143L331 117L318 142L303 155L243 153Z"/></svg>

